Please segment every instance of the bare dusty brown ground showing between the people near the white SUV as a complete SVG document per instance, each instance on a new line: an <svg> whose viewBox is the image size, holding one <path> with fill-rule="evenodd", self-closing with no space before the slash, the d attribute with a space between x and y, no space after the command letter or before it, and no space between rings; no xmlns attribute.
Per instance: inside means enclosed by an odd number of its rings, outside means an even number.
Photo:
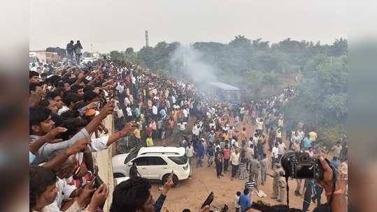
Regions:
<svg viewBox="0 0 377 212"><path fill-rule="evenodd" d="M189 127L190 129L190 127ZM246 126L247 135L251 135L254 132L255 127ZM177 145L178 141L164 140L156 141L155 145ZM285 141L287 145L287 142ZM266 145L268 146L268 145ZM268 157L271 158L271 153L266 151ZM230 173L224 174L221 179L216 178L216 172L214 165L212 167L206 166L206 158L204 158L204 167L196 168L196 160L192 162L192 178L187 181L180 181L176 188L171 188L169 190L168 197L164 203L164 207L169 209L169 211L178 212L183 211L183 209L190 209L191 211L199 211L199 207L204 202L209 192L213 191L215 193L215 199L211 204L214 211L220 211L224 204L229 206L229 211L235 211L234 209L234 198L236 191L243 191L246 181L241 181L239 179L234 179L231 181ZM230 167L229 167L230 168ZM229 169L230 171L230 169ZM271 172L271 169L269 169ZM280 204L274 199L270 199L272 195L272 179L267 176L267 181L264 185L260 184L260 174L258 179L258 188L262 189L268 197L259 198L257 194L252 195L252 201L257 202L262 200L266 204ZM297 209L302 209L303 197L294 196L294 189L296 188L296 181L289 180L290 185L290 207ZM301 193L304 187L304 181L301 186ZM159 196L159 184L154 183L152 185L152 195L155 199ZM322 203L325 202L325 195L322 195ZM316 204L313 204L309 208L312 211Z"/></svg>

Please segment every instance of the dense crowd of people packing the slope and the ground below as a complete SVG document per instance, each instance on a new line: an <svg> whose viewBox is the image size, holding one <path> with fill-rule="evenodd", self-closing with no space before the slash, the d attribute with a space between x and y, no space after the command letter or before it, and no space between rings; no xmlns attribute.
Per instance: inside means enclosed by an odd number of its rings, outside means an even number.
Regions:
<svg viewBox="0 0 377 212"><path fill-rule="evenodd" d="M67 52L75 49L73 41L69 45ZM288 86L277 96L225 103L194 84L108 59L86 66L64 63L41 73L31 70L30 211L100 211L109 190L98 175L92 152L117 141L129 149L172 138L178 138L176 145L186 149L190 164L195 161L198 169L206 158L208 167L214 162L216 177L229 172L232 180L247 180L243 195L236 195L236 208L241 211L252 207L251 194L261 193L257 185L264 185L266 176L273 177L272 198L283 204L286 184L280 158L287 151L307 151L311 156L322 152L313 129L291 123L281 114L280 106L293 96L294 88ZM102 123L108 115L114 116L115 133ZM255 126L255 132L248 135L245 125ZM288 147L283 139L289 141ZM346 138L331 151L336 156L333 166L346 174ZM321 203L322 191L311 180L304 184L306 211L311 201ZM111 211L160 211L172 185L171 179L166 181L155 202L150 183L136 175L116 186ZM300 189L297 180L295 194L301 195ZM331 190L325 187L325 191Z"/></svg>

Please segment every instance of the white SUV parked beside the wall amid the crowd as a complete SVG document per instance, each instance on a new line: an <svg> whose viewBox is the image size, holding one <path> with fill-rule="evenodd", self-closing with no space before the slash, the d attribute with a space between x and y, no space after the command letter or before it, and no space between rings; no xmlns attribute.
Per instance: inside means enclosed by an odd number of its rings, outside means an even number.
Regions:
<svg viewBox="0 0 377 212"><path fill-rule="evenodd" d="M145 179L159 180L162 183L174 170L173 183L188 179L191 167L185 155L185 148L176 146L148 146L131 149L128 153L113 157L114 177L129 176L129 168L136 162L138 172Z"/></svg>

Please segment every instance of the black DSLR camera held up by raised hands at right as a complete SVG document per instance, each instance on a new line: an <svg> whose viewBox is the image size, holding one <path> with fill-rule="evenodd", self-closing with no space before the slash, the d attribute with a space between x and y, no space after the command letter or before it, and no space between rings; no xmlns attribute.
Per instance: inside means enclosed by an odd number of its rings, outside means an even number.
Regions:
<svg viewBox="0 0 377 212"><path fill-rule="evenodd" d="M280 160L286 176L292 179L323 179L320 160L303 151L286 153Z"/></svg>

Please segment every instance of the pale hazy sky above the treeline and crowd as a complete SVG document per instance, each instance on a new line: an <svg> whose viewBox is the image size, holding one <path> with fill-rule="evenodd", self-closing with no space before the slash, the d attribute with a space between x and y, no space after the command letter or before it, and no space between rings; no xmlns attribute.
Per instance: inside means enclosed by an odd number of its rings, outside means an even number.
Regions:
<svg viewBox="0 0 377 212"><path fill-rule="evenodd" d="M236 35L276 43L285 38L332 43L347 38L342 0L33 0L30 50L66 47L80 40L85 51L110 52L178 41L229 43Z"/></svg>

